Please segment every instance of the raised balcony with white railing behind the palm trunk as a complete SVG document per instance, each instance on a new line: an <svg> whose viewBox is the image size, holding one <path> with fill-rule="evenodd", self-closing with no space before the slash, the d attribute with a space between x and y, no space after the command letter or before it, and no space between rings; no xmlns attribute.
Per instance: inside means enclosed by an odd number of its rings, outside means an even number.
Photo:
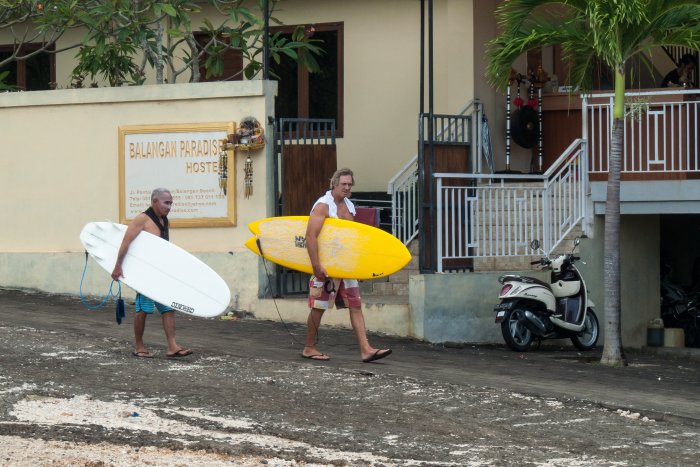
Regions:
<svg viewBox="0 0 700 467"><path fill-rule="evenodd" d="M625 101L621 213L700 212L700 91L628 92ZM611 93L550 95L543 102L545 166L568 138L585 139L595 214L605 210L612 107Z"/></svg>

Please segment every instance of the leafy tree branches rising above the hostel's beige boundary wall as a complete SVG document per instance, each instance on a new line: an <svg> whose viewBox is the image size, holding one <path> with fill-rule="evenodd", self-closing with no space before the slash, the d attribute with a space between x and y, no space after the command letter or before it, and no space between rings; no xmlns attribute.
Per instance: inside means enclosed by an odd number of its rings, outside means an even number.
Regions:
<svg viewBox="0 0 700 467"><path fill-rule="evenodd" d="M201 17L202 4L213 12L209 17ZM276 4L270 0L270 22L280 24L272 16ZM165 82L166 70L172 82L186 72L197 81L200 67L207 78L221 77L225 53L231 49L243 55L242 72L252 79L262 70L264 36L262 1L253 5L257 11L243 0L0 0L0 30L12 31L19 48L29 36L16 33L16 25L25 26L25 31L30 30L26 25L34 25L32 40L42 42L44 50L69 29L84 30L80 43L57 51L79 48L79 63L71 74L76 85L88 78L110 86L140 84L147 66L156 70L159 83ZM193 30L193 19L201 22L198 29ZM271 36L270 56L279 60L284 54L317 70L314 55L322 53L318 41L299 29L291 41ZM21 59L11 57L0 66Z"/></svg>

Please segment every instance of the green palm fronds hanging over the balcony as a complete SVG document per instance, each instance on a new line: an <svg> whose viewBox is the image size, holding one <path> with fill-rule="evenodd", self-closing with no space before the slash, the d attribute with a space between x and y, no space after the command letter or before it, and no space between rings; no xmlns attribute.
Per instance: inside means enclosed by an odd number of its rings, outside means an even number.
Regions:
<svg viewBox="0 0 700 467"><path fill-rule="evenodd" d="M595 61L622 73L641 52L680 45L700 49L697 0L505 0L496 12L501 32L488 44L487 76L505 87L523 53L559 44L569 81L588 90Z"/></svg>

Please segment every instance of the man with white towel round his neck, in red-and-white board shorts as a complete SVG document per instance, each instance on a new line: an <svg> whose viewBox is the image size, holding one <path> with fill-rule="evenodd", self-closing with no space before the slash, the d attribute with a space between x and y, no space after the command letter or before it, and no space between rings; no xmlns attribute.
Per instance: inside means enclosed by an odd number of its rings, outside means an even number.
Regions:
<svg viewBox="0 0 700 467"><path fill-rule="evenodd" d="M391 349L376 349L369 344L362 314L360 285L354 279L330 278L326 268L321 264L318 254L318 236L327 217L355 220L355 206L350 191L355 179L350 169L336 170L331 178L330 190L321 196L311 208L309 223L306 227L306 248L314 270L309 281L309 317L307 319L306 344L301 356L311 360L330 360L328 355L316 348L316 335L321 325L323 313L333 308L349 308L350 324L355 331L360 347L360 358L365 363L379 360L391 354Z"/></svg>

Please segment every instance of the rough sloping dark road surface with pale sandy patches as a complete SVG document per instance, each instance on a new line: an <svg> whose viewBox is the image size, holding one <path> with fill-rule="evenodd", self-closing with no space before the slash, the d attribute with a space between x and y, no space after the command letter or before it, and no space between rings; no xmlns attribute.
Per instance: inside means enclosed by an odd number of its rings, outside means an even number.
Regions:
<svg viewBox="0 0 700 467"><path fill-rule="evenodd" d="M329 330L321 344L333 360L319 364L298 357L279 323L244 321L181 319L178 339L195 347L182 359L165 358L153 321L156 358L137 359L131 329L111 316L0 290L0 464L700 465L698 420L645 409L635 393L635 381L658 385L652 396L692 407L695 363L640 361L615 373L373 336L394 355L362 364L351 333ZM559 392L523 386L526 365ZM597 400L606 387L629 403Z"/></svg>

